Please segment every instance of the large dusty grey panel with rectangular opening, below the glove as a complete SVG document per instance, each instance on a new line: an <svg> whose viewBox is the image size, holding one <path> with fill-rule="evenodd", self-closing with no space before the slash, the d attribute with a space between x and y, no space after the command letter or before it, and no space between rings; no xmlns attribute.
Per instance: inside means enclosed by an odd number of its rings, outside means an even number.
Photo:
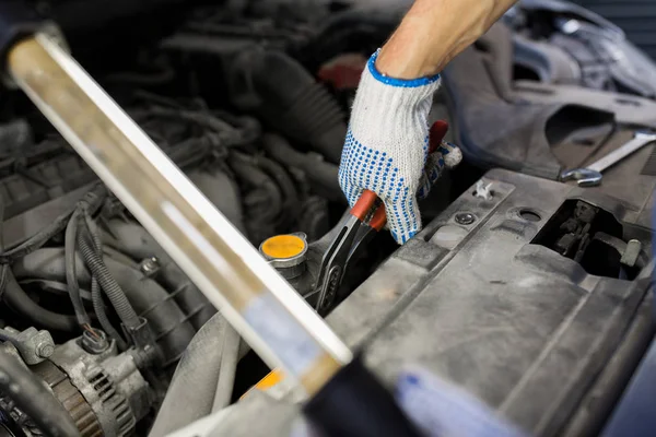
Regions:
<svg viewBox="0 0 656 437"><path fill-rule="evenodd" d="M328 321L390 387L413 363L531 435L591 435L653 332L653 267L633 281L594 275L536 237L584 201L610 217L609 233L649 253L649 194L622 204L506 170L484 181L490 200L465 192Z"/></svg>

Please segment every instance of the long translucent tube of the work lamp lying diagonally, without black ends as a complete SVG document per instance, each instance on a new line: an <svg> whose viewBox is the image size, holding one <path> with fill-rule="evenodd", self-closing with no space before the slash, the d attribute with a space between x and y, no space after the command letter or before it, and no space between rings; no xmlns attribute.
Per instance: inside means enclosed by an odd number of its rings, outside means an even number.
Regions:
<svg viewBox="0 0 656 437"><path fill-rule="evenodd" d="M312 395L345 344L59 45L16 44L9 72L108 188L271 367Z"/></svg>

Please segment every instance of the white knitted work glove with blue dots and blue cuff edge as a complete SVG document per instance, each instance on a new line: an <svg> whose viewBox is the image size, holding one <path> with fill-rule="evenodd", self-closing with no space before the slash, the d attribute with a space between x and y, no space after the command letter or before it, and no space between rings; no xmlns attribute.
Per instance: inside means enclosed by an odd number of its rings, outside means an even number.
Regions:
<svg viewBox="0 0 656 437"><path fill-rule="evenodd" d="M353 206L362 191L385 202L387 225L399 244L421 231L417 198L425 198L444 167L462 158L442 143L429 155L427 117L440 76L399 80L376 70L377 52L367 62L353 109L339 168L339 184Z"/></svg>

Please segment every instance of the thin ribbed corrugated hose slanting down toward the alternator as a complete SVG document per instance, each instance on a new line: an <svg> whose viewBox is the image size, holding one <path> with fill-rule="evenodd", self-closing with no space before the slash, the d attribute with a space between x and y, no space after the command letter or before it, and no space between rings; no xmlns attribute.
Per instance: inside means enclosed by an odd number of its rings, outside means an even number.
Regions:
<svg viewBox="0 0 656 437"><path fill-rule="evenodd" d="M137 316L134 308L132 308L130 300L126 297L125 292L121 290L120 285L118 285L116 279L109 273L109 270L107 270L107 265L105 265L103 259L91 247L91 243L84 235L78 235L78 244L80 246L80 252L84 258L84 262L97 277L101 288L103 288L109 298L120 321L127 328L138 328L141 324L139 316Z"/></svg>

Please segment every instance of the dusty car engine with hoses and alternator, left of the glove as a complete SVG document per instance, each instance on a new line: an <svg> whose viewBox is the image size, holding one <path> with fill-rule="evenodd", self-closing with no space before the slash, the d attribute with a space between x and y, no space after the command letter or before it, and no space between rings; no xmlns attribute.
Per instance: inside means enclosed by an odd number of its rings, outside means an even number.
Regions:
<svg viewBox="0 0 656 437"><path fill-rule="evenodd" d="M141 29L138 44L113 43L120 50L79 26L91 13L84 5L39 8L255 246L285 233L312 244L345 208L337 164L362 64L329 63L347 36L327 25L328 42L312 28L330 15L327 7L257 3L184 8L184 19L168 8L166 29ZM110 11L125 23L143 17L125 4ZM385 29L361 32L370 43L352 56L365 57L377 40L372 33ZM145 434L189 342L221 317L36 109L19 92L3 93L2 347L47 385L81 435ZM389 241L382 247L354 270L353 284L394 249ZM256 370L237 381L245 387L266 375L249 358ZM7 433L42 434L24 405L11 397L0 405Z"/></svg>

